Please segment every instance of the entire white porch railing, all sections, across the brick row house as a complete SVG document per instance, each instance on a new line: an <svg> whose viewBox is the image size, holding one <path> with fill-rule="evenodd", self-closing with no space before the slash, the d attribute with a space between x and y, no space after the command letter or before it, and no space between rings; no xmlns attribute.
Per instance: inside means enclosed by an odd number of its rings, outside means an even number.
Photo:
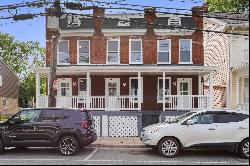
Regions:
<svg viewBox="0 0 250 166"><path fill-rule="evenodd" d="M210 98L205 95L166 95L165 110L193 110L209 108ZM48 96L38 97L37 107L48 107ZM89 102L89 103L88 103ZM90 110L139 110L136 96L62 96L56 97L56 106Z"/></svg>

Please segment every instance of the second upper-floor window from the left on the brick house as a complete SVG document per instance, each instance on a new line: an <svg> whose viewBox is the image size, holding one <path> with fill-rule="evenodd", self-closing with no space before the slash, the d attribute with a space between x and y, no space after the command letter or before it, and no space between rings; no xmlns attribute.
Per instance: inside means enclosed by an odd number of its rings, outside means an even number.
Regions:
<svg viewBox="0 0 250 166"><path fill-rule="evenodd" d="M78 64L90 63L90 44L89 40L78 41Z"/></svg>

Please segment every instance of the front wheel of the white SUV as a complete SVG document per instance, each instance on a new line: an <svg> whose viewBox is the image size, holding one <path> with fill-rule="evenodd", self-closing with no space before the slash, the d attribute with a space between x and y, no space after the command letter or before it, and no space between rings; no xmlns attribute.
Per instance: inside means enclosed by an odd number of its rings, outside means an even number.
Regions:
<svg viewBox="0 0 250 166"><path fill-rule="evenodd" d="M159 142L158 151L164 157L175 157L180 151L180 144L175 138L167 137Z"/></svg>

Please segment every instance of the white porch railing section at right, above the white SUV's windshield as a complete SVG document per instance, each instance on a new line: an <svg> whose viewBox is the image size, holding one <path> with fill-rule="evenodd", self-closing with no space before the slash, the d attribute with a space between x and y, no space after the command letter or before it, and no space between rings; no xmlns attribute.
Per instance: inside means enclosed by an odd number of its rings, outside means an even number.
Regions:
<svg viewBox="0 0 250 166"><path fill-rule="evenodd" d="M209 108L209 96L166 95L165 110L194 110Z"/></svg>

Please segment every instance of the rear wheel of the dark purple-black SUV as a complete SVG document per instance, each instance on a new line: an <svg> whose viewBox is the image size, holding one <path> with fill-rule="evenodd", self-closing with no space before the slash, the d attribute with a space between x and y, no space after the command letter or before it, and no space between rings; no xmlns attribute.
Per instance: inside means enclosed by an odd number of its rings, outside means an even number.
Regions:
<svg viewBox="0 0 250 166"><path fill-rule="evenodd" d="M58 149L64 156L71 156L79 150L78 140L73 136L64 136L58 143Z"/></svg>

